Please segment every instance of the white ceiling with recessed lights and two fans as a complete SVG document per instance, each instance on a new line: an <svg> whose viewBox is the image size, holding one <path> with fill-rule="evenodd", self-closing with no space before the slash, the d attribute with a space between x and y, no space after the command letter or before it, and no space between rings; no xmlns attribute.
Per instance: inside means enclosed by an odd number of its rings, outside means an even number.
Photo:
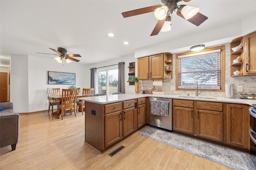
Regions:
<svg viewBox="0 0 256 170"><path fill-rule="evenodd" d="M0 66L8 64L11 54L54 59L36 53L54 54L49 47L80 54L83 64L134 55L145 46L240 20L255 11L256 0L179 2L199 7L208 20L197 27L173 14L172 31L156 36L150 36L157 23L154 12L122 17L122 12L156 4L161 0L1 0ZM108 32L115 36L108 37Z"/></svg>

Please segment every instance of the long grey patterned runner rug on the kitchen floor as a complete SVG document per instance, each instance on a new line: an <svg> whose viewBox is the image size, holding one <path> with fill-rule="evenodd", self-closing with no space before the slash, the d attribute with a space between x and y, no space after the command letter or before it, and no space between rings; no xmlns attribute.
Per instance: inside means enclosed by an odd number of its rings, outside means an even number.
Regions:
<svg viewBox="0 0 256 170"><path fill-rule="evenodd" d="M204 142L198 139L179 135L151 126L141 131L140 135L211 160L234 170L254 169L250 166L252 162L248 158L247 154L234 149L214 145L212 143Z"/></svg>

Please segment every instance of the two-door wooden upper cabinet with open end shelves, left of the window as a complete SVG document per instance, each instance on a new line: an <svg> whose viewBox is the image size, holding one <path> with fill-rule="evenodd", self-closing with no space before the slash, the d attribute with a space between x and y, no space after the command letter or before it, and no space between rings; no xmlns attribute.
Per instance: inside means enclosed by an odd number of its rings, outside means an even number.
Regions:
<svg viewBox="0 0 256 170"><path fill-rule="evenodd" d="M138 80L172 78L172 54L161 53L138 59ZM168 66L168 69L165 69Z"/></svg>

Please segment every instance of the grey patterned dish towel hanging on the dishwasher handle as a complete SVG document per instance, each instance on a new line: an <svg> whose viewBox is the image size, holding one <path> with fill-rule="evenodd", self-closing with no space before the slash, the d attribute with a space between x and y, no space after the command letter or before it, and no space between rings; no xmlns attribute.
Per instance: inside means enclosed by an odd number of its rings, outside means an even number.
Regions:
<svg viewBox="0 0 256 170"><path fill-rule="evenodd" d="M168 116L169 102L160 100L150 100L150 113L152 115Z"/></svg>

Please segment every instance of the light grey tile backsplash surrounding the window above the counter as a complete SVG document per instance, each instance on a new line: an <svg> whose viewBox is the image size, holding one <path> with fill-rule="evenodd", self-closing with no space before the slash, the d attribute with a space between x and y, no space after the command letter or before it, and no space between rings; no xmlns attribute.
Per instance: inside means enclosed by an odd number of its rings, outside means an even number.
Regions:
<svg viewBox="0 0 256 170"><path fill-rule="evenodd" d="M196 92L176 90L176 55L173 55L173 77L172 79L165 79L162 86L155 86L157 90L164 90L164 94L174 95L187 95L195 96ZM230 44L225 44L225 84L234 84L234 98L242 97L240 92L237 91L237 86L243 86L243 92L255 92L256 94L256 76L230 76ZM153 88L153 80L140 80L140 90L151 90ZM225 92L207 92L202 91L198 96L211 96L211 97L226 97Z"/></svg>

